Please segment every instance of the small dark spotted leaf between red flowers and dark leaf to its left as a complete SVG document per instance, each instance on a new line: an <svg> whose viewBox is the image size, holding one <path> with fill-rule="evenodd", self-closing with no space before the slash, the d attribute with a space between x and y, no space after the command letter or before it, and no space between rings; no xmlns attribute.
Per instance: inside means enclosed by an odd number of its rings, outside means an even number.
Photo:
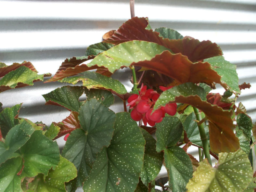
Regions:
<svg viewBox="0 0 256 192"><path fill-rule="evenodd" d="M86 99L96 98L106 107L114 104L114 96L111 92L102 89L85 89Z"/></svg>

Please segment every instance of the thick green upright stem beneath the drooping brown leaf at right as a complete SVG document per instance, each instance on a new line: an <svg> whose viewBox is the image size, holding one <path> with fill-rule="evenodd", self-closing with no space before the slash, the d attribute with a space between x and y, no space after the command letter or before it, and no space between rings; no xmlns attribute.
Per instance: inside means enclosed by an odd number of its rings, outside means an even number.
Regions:
<svg viewBox="0 0 256 192"><path fill-rule="evenodd" d="M195 111L197 120L200 122L202 120L201 114L199 113L199 111L196 107L193 107L193 109ZM210 151L209 151L207 136L206 136L205 130L204 130L204 125L203 124L198 125L198 129L199 129L201 141L202 141L202 144L203 144L204 155L208 159L208 162L211 164Z"/></svg>

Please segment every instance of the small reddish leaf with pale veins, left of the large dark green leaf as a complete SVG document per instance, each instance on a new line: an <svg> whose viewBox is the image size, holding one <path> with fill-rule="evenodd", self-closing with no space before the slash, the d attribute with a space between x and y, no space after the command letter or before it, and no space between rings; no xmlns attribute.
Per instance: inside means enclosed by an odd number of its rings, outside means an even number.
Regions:
<svg viewBox="0 0 256 192"><path fill-rule="evenodd" d="M54 138L54 139L58 139L59 137L65 134L68 134L75 129L80 128L78 113L75 111L72 111L66 119L62 120L62 122L58 122L54 124L60 127L60 131L58 135Z"/></svg>

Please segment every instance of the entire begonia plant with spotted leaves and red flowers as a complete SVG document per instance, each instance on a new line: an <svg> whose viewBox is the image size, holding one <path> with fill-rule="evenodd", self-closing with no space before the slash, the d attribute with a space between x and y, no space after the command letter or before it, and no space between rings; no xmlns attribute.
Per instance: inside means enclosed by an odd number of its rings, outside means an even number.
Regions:
<svg viewBox="0 0 256 192"><path fill-rule="evenodd" d="M250 84L238 84L236 66L221 48L173 29L153 31L147 18L129 19L109 34L84 56L65 59L45 81L82 81L43 95L46 105L70 111L61 122L33 123L19 117L21 104L2 109L0 103L0 191L254 191L255 125L236 104ZM130 92L111 77L125 67ZM30 62L0 63L0 92L47 75ZM209 93L216 84L224 95ZM109 109L114 95L124 112ZM60 153L54 140L63 135ZM187 152L191 145L199 162ZM214 167L210 154L218 160ZM162 164L167 177L156 180Z"/></svg>

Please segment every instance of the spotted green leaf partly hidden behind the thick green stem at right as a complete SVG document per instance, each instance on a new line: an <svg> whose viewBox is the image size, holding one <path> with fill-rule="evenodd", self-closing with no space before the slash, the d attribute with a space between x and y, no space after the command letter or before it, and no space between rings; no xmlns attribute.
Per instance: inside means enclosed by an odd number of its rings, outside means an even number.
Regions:
<svg viewBox="0 0 256 192"><path fill-rule="evenodd" d="M186 131L187 137L190 140L190 142L193 143L193 144L196 144L198 146L203 147L197 122L194 121L196 119L197 118L196 118L195 113L194 112L190 113L186 117L185 121L183 122L183 126L184 126L184 130ZM210 138L209 129L208 129L207 126L205 126L204 130L205 130L205 133L207 135L207 140L208 140L208 143L209 143L210 142L209 141L209 138Z"/></svg>

